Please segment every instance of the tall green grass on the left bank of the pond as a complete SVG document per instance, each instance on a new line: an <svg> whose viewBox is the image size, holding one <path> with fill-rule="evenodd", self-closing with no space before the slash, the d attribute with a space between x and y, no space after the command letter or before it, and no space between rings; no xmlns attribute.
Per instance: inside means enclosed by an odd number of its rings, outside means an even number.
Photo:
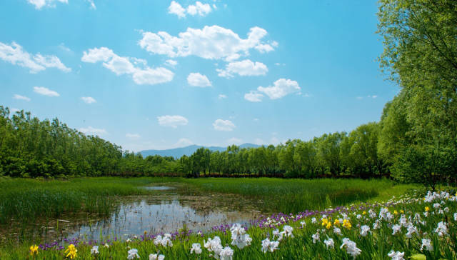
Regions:
<svg viewBox="0 0 457 260"><path fill-rule="evenodd" d="M85 211L109 214L116 196L148 194L138 186L166 179L112 177L44 181L0 179L0 224ZM14 220L13 220L14 219Z"/></svg>

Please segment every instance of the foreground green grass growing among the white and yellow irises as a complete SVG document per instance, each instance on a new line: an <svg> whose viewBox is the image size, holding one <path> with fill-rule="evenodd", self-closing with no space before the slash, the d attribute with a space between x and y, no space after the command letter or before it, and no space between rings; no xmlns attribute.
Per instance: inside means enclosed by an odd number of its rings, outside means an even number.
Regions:
<svg viewBox="0 0 457 260"><path fill-rule="evenodd" d="M452 194L455 194L455 190ZM436 203L442 204L437 208ZM424 209L428 206L430 209L425 216ZM379 212L381 208L388 208L391 219L381 219ZM440 212L440 209L443 210ZM374 216L370 216L369 210L374 211ZM365 211L366 213L364 213ZM453 216L457 211L457 201L455 196L449 199L436 198L431 202L423 201L421 196L399 196L398 201L389 201L389 204L376 204L354 206L351 208L338 209L333 212L311 212L310 214L297 214L294 216L281 215L274 219L272 226L253 226L246 230L252 238L251 245L238 249L231 245L231 233L226 231L214 231L210 234L199 236L198 234L185 234L182 232L174 237L173 246L161 246L154 244L154 237L147 236L146 239L133 239L131 242L115 241L111 242L109 248L104 248L105 241L95 243L99 246L100 254L91 255L92 244L78 243L76 259L126 259L129 249L138 249L141 259L149 259L149 254L164 254L165 259L214 259L211 253L204 248L204 241L209 238L219 236L222 246L230 246L233 249L233 259L353 259L348 251L341 248L343 238L350 239L356 243L356 247L361 250L356 259L391 259L389 252L403 252L404 259L456 259L457 251L457 220ZM337 234L333 227L326 229L321 225L321 218L326 214L326 219L333 220L345 217L350 219L351 228L339 225L341 234ZM402 215L406 217L404 224L397 234L393 234L393 224L401 224ZM413 219L415 214L420 215L420 219ZM361 217L358 217L360 215ZM408 218L411 216L411 219ZM315 217L317 223L312 223ZM266 221L264 219L263 221ZM261 221L260 223L263 223ZM306 224L302 226L301 221ZM378 222L378 229L373 228L373 224ZM323 222L323 221L322 221ZM436 232L438 223L445 223L447 231L444 234ZM278 249L263 253L261 251L262 241L269 236L273 239L273 229L283 230L283 226L290 225L293 227L293 236L283 238ZM363 236L361 226L367 225L371 229ZM408 229L406 226L414 226L417 231L411 236L407 236ZM311 236L316 233L320 238L313 241ZM277 238L276 238L277 239ZM326 239L333 239L334 247L326 247L323 243ZM422 239L430 239L433 249L428 251L422 247ZM193 243L201 244L203 252L197 256L190 253ZM0 251L1 259L64 259L64 249L48 249L46 251L39 249L35 256L29 256L29 246L21 245L10 248L6 251ZM65 245L67 247L68 244ZM411 258L415 256L416 258Z"/></svg>

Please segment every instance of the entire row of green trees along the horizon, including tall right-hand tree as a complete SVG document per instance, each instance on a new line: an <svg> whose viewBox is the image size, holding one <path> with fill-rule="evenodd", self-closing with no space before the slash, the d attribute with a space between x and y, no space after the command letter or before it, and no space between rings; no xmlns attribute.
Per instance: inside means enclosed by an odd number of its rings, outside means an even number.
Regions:
<svg viewBox="0 0 457 260"><path fill-rule="evenodd" d="M390 175L434 186L457 176L457 1L380 0L381 71L401 87L378 122L277 146L199 149L180 159L123 151L58 119L0 106L0 174L8 176Z"/></svg>

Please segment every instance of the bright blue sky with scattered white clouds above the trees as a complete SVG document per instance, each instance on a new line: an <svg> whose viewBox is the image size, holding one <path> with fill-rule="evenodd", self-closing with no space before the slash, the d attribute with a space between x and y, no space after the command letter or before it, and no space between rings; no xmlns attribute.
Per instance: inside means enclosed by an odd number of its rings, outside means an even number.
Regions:
<svg viewBox="0 0 457 260"><path fill-rule="evenodd" d="M376 1L0 1L0 105L129 151L378 121Z"/></svg>

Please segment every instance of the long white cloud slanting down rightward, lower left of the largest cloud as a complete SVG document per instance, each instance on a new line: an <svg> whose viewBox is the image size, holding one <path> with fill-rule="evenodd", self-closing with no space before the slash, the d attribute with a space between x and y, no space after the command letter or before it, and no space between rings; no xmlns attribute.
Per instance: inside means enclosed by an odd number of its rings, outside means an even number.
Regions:
<svg viewBox="0 0 457 260"><path fill-rule="evenodd" d="M161 84L173 80L174 73L163 67L155 69L147 66L144 59L136 59L131 57L121 57L111 49L106 47L89 49L84 51L81 61L95 63L103 61L103 66L106 69L113 71L116 75L128 74L136 84ZM133 63L132 63L133 62Z"/></svg>

